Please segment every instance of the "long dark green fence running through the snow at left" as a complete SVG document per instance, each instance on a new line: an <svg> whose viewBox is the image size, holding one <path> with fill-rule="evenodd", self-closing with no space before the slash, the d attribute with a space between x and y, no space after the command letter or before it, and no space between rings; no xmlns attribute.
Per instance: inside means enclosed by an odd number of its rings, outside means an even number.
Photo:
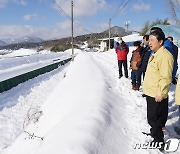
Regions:
<svg viewBox="0 0 180 154"><path fill-rule="evenodd" d="M48 65L48 66L45 66L42 68L39 68L37 70L33 70L31 72L27 72L25 74L15 76L13 78L10 78L10 79L4 80L4 81L1 81L0 82L0 93L13 88L22 82L25 82L29 79L37 77L38 75L44 74L46 72L50 72L50 71L58 68L59 66L66 64L70 60L71 60L71 58L60 61L60 62L56 62L54 64L51 64L51 65Z"/></svg>

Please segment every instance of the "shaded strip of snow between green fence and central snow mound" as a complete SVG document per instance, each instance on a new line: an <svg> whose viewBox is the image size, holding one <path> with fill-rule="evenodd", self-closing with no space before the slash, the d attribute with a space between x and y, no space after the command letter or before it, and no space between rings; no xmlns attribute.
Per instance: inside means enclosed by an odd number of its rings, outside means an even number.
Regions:
<svg viewBox="0 0 180 154"><path fill-rule="evenodd" d="M57 83L63 79L68 66L61 66L0 94L0 153L24 131L23 123L28 124L29 110L42 107Z"/></svg>

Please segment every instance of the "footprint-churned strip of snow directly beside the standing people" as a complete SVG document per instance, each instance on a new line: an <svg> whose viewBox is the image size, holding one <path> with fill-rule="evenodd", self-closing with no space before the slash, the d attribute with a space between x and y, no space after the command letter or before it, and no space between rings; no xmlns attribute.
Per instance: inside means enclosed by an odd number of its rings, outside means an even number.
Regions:
<svg viewBox="0 0 180 154"><path fill-rule="evenodd" d="M130 143L128 147L129 149L127 151L131 151L137 154L159 153L159 151L157 150L147 151L133 149L135 143L145 143L150 140L149 137L146 137L141 133L142 131L149 131L149 125L146 122L146 101L144 98L141 97L140 92L131 90L130 79L126 79L124 77L118 79L117 61L113 57L116 55L113 55L113 53L111 52L112 51L107 53L92 53L92 55L96 62L99 63L102 68L105 68L103 69L106 70L106 75L108 76L107 78L109 79L109 84L111 85L111 87L113 87L113 91L117 93L117 95L121 96L119 97L119 104L117 104L116 107L123 105L124 108L123 110L116 110L116 114L121 115L127 125L124 128L121 125L119 127L116 127L116 129L121 129L124 134L129 137ZM122 112L122 114L118 112ZM121 121L119 121L119 123L121 123Z"/></svg>

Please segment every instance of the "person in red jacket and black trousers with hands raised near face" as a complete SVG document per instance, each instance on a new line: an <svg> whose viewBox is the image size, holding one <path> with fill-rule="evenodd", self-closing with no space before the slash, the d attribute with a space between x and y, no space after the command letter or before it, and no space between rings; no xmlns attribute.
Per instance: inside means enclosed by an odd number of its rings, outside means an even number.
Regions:
<svg viewBox="0 0 180 154"><path fill-rule="evenodd" d="M128 45L122 40L122 38L118 39L119 42L116 43L116 54L118 59L118 67L119 67L119 79L123 76L122 74L122 65L124 67L125 77L128 78L128 67L127 67L127 54L129 52Z"/></svg>

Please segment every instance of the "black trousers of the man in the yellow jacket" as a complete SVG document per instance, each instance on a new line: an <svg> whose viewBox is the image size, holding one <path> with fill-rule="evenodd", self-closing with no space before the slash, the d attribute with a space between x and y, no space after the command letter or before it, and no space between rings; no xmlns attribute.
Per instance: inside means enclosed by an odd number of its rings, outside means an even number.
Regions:
<svg viewBox="0 0 180 154"><path fill-rule="evenodd" d="M165 126L168 117L168 98L156 102L154 97L147 96L147 120L151 126L151 136L157 142L164 140L162 127Z"/></svg>

